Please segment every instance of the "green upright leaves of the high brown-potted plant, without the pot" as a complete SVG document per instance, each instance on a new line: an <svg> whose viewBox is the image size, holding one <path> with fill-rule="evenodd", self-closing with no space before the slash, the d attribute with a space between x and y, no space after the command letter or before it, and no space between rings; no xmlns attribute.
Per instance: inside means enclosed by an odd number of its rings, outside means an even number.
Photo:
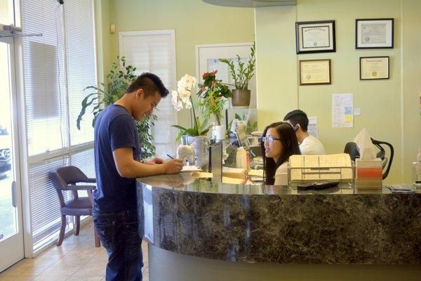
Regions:
<svg viewBox="0 0 421 281"><path fill-rule="evenodd" d="M255 43L250 47L250 55L248 56L247 65L241 61L241 57L236 55L237 63L239 67L236 69L234 62L231 59L220 58L221 63L226 63L231 72L231 77L234 79L234 86L237 90L247 90L248 81L253 77L253 71L255 69Z"/></svg>

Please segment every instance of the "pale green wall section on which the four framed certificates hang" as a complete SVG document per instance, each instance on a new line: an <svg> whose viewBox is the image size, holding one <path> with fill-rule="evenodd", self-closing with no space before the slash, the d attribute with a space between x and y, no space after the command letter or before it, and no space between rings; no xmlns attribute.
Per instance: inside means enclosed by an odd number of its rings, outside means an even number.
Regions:
<svg viewBox="0 0 421 281"><path fill-rule="evenodd" d="M256 8L258 120L260 129L298 107L317 116L326 152L342 152L347 141L366 127L373 138L394 145L387 182L411 181L411 163L421 145L421 1L298 0L297 6ZM393 49L355 49L356 18L394 18ZM336 52L295 54L295 22L335 20ZM390 79L359 80L359 57L388 55ZM331 59L332 84L298 86L298 61ZM333 93L354 93L354 128L333 129ZM276 100L276 103L274 103Z"/></svg>

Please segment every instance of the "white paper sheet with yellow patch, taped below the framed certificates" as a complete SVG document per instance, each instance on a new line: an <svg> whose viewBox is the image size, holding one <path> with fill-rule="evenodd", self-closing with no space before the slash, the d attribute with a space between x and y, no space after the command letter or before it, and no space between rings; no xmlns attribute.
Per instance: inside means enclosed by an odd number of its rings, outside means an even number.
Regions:
<svg viewBox="0 0 421 281"><path fill-rule="evenodd" d="M352 93L332 94L332 127L352 128L354 126L354 96Z"/></svg>

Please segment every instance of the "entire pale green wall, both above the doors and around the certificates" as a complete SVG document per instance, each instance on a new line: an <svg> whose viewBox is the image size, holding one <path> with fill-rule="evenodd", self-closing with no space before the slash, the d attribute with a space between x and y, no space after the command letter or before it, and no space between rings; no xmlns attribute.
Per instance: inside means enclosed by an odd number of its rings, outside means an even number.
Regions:
<svg viewBox="0 0 421 281"><path fill-rule="evenodd" d="M119 53L119 31L174 29L177 77L195 74L195 45L252 41L257 48L258 120L260 129L295 108L319 118L319 136L328 153L342 152L347 141L366 127L395 148L387 182L411 180L411 163L421 145L421 1L417 0L298 0L297 6L227 8L201 0L95 0L98 76L104 80ZM356 18L394 18L394 48L356 50ZM335 53L295 54L295 22L335 20ZM109 33L109 25L116 33ZM359 80L360 56L390 56L390 79ZM332 60L332 84L298 86L298 61ZM332 93L354 93L354 128L333 129ZM187 111L179 123L189 124Z"/></svg>

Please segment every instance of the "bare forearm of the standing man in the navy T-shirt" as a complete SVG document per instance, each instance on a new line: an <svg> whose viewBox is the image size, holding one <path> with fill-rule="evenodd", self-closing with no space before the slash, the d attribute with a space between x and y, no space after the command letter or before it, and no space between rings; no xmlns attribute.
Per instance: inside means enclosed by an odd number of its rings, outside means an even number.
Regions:
<svg viewBox="0 0 421 281"><path fill-rule="evenodd" d="M163 164L143 164L133 159L133 148L118 148L112 152L119 175L124 178L177 174L182 169L182 160L173 159Z"/></svg>

